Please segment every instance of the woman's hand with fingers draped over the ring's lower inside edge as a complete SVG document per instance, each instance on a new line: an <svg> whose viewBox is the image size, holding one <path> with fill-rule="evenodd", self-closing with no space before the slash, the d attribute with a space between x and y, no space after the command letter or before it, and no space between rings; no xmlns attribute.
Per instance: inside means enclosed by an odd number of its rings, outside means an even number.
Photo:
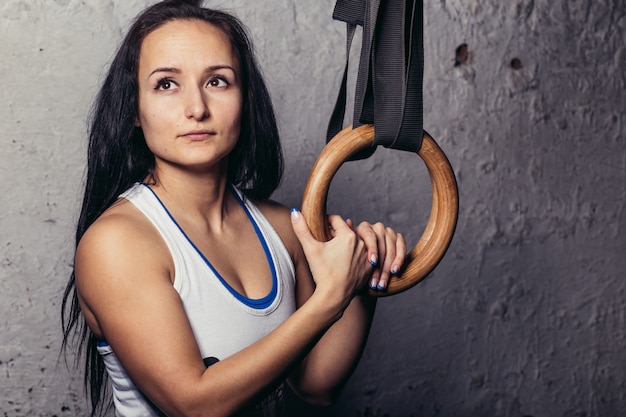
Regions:
<svg viewBox="0 0 626 417"><path fill-rule="evenodd" d="M352 220L347 220L353 226ZM392 275L397 274L406 256L404 237L383 223L362 222L354 230L365 242L368 259L376 268L368 285L373 290L384 291Z"/></svg>

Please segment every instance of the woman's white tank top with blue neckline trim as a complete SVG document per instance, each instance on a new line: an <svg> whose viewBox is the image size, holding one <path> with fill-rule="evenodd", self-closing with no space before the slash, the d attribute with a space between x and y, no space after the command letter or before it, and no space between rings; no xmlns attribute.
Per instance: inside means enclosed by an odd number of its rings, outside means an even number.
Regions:
<svg viewBox="0 0 626 417"><path fill-rule="evenodd" d="M272 289L261 299L244 297L228 285L148 185L135 184L120 196L152 222L167 244L174 261L173 285L180 294L207 366L263 338L296 309L295 270L289 252L261 211L239 190L231 189L254 226L272 273ZM162 415L128 377L106 342L99 344L98 352L112 383L117 416ZM276 415L281 400L282 388L279 388L245 415Z"/></svg>

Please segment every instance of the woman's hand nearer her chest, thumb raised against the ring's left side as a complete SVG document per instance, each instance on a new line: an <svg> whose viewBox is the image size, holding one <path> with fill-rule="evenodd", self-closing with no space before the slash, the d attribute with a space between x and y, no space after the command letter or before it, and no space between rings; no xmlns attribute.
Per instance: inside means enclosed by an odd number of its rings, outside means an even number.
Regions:
<svg viewBox="0 0 626 417"><path fill-rule="evenodd" d="M293 230L302 245L316 284L315 293L345 309L374 271L365 242L340 216L328 216L332 239L316 240L302 213L291 211Z"/></svg>

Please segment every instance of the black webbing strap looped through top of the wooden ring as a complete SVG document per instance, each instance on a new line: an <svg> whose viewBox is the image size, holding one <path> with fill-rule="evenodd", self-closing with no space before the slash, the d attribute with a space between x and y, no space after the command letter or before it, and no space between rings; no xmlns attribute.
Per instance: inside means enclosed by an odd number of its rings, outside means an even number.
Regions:
<svg viewBox="0 0 626 417"><path fill-rule="evenodd" d="M424 76L422 0L337 0L333 19L346 22L346 67L326 141L342 128L348 61L356 26L363 27L353 126L374 124L375 146L417 152L422 145Z"/></svg>

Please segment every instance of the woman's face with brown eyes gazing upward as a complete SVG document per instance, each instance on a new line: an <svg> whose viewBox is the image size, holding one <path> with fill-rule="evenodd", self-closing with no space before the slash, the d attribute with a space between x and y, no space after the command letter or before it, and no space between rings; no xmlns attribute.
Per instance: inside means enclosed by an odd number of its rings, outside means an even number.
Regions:
<svg viewBox="0 0 626 417"><path fill-rule="evenodd" d="M144 38L136 123L157 170L225 169L240 132L240 77L228 37L206 22L175 20Z"/></svg>

